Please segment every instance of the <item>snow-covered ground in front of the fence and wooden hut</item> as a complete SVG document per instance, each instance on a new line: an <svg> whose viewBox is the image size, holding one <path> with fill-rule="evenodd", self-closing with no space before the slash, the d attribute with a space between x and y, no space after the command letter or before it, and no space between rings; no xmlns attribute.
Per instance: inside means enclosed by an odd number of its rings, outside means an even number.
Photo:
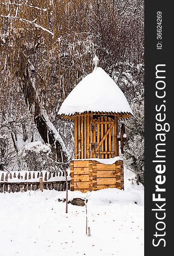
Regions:
<svg viewBox="0 0 174 256"><path fill-rule="evenodd" d="M132 185L131 177L125 170L126 193L87 194L90 237L85 207L68 204L66 214L58 202L64 192L0 193L0 256L143 256L144 187Z"/></svg>

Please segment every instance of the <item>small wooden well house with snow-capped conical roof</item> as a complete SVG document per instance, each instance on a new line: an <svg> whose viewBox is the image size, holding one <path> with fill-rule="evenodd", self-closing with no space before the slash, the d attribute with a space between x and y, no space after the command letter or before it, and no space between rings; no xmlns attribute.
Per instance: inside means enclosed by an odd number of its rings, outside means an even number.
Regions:
<svg viewBox="0 0 174 256"><path fill-rule="evenodd" d="M74 160L70 162L70 189L87 192L103 188L124 189L123 161L125 125L131 108L122 91L101 68L95 68L67 96L58 114L74 119Z"/></svg>

